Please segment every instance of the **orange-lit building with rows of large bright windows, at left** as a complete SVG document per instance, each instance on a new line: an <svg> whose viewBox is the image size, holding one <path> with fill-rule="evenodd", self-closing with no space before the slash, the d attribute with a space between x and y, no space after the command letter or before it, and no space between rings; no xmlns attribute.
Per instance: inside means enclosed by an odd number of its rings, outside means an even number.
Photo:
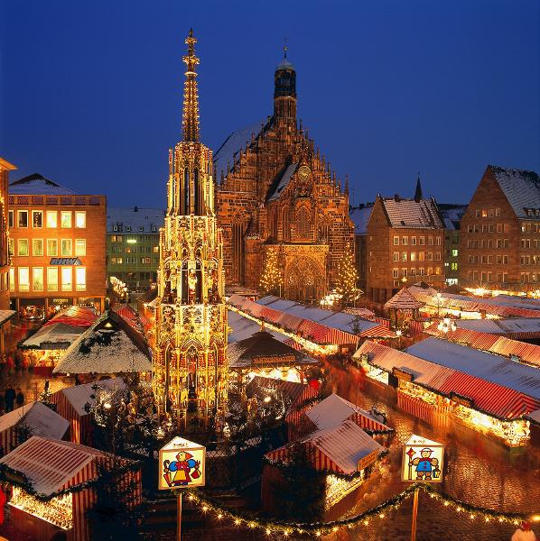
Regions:
<svg viewBox="0 0 540 541"><path fill-rule="evenodd" d="M83 196L42 175L9 185L12 307L27 316L106 296L105 196Z"/></svg>

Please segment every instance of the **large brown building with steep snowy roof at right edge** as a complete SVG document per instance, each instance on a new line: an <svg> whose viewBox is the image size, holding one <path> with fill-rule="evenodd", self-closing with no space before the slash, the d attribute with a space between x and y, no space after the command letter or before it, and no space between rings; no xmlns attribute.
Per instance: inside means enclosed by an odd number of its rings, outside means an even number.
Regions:
<svg viewBox="0 0 540 541"><path fill-rule="evenodd" d="M461 219L464 287L540 288L540 178L489 165Z"/></svg>

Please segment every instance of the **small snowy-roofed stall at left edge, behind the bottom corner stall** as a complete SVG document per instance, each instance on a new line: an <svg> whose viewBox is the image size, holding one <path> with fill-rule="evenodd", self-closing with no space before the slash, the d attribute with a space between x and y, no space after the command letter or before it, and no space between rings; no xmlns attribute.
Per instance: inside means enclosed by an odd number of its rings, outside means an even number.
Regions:
<svg viewBox="0 0 540 541"><path fill-rule="evenodd" d="M4 454L11 453L31 436L68 439L70 422L42 402L31 402L0 417L0 443Z"/></svg>

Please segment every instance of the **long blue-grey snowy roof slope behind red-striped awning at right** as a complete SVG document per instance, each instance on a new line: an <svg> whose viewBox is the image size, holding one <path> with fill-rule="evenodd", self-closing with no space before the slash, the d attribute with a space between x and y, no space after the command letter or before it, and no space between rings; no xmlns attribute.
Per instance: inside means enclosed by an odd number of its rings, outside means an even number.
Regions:
<svg viewBox="0 0 540 541"><path fill-rule="evenodd" d="M502 355L434 337L411 345L405 353L540 399L540 371Z"/></svg>

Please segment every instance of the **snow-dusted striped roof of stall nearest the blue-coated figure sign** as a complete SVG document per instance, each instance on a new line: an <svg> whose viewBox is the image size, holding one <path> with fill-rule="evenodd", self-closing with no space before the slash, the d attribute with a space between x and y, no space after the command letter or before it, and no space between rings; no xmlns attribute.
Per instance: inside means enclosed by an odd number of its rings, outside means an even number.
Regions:
<svg viewBox="0 0 540 541"><path fill-rule="evenodd" d="M385 447L377 444L352 421L344 421L338 426L313 432L303 441L311 443L321 453L326 454L344 473L356 472L358 462L368 454L374 451L380 454L385 451Z"/></svg>

